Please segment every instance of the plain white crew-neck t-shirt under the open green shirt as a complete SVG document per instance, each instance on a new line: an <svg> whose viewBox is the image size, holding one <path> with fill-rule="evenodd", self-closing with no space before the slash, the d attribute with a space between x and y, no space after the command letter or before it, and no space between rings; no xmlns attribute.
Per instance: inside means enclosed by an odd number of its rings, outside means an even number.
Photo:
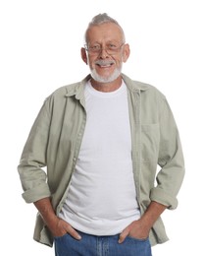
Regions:
<svg viewBox="0 0 205 256"><path fill-rule="evenodd" d="M140 218L131 160L128 92L85 86L86 125L60 218L94 235L120 233Z"/></svg>

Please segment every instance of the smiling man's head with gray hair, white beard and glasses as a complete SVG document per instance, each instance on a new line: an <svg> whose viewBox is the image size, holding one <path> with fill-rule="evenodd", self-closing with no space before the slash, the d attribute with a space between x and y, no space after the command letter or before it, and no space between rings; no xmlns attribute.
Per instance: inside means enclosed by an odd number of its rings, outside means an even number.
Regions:
<svg viewBox="0 0 205 256"><path fill-rule="evenodd" d="M129 46L118 22L107 14L99 14L89 23L84 37L81 58L89 65L95 83L121 81L123 63L129 56Z"/></svg>

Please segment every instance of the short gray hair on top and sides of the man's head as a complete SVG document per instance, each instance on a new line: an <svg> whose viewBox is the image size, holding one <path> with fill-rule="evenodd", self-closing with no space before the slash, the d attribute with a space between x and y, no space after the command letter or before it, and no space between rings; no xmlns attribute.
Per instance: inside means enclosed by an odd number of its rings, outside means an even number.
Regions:
<svg viewBox="0 0 205 256"><path fill-rule="evenodd" d="M92 18L91 22L88 24L88 27L87 27L87 29L86 29L86 31L84 33L85 42L87 42L87 31L90 29L90 27L98 26L98 25L106 24L106 23L114 23L114 24L116 24L121 29L122 35L123 35L123 40L124 40L124 42L126 42L125 32L122 29L122 27L120 26L120 24L115 19L113 19L112 17L108 16L106 13L98 14L98 15L96 15L96 16L94 16Z"/></svg>

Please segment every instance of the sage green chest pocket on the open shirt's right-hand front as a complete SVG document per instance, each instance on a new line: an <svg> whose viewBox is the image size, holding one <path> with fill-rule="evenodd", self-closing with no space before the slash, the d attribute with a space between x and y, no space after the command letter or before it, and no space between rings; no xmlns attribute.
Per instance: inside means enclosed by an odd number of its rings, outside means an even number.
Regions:
<svg viewBox="0 0 205 256"><path fill-rule="evenodd" d="M141 125L141 160L157 161L160 143L160 126L158 123Z"/></svg>

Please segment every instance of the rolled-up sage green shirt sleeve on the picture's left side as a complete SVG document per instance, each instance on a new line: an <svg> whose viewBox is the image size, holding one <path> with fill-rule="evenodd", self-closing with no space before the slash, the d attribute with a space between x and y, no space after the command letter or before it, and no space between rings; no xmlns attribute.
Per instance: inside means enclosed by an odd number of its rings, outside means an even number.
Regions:
<svg viewBox="0 0 205 256"><path fill-rule="evenodd" d="M49 197L51 194L44 169L50 126L48 105L49 100L46 99L31 127L18 165L26 203Z"/></svg>

